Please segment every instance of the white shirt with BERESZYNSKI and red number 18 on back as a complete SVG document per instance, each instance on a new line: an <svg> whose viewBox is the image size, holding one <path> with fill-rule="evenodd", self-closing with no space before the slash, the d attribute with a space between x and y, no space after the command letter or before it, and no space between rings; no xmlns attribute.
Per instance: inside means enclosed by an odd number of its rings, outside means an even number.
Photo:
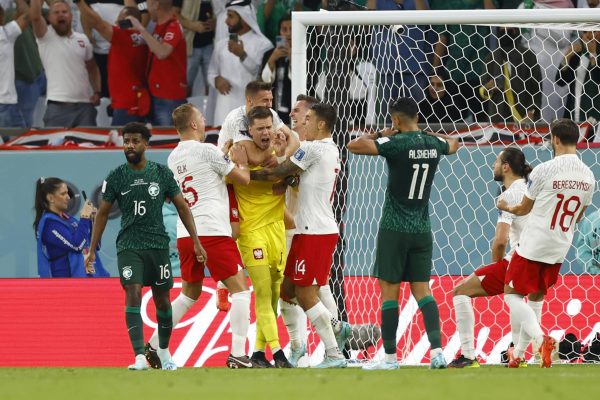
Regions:
<svg viewBox="0 0 600 400"><path fill-rule="evenodd" d="M528 260L562 263L573 241L575 221L592 202L594 174L575 154L538 165L525 195L535 200L517 253Z"/></svg>

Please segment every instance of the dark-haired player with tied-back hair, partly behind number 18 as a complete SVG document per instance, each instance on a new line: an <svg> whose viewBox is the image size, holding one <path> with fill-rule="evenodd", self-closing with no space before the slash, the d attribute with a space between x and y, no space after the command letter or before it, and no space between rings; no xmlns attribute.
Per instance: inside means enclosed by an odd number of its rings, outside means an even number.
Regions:
<svg viewBox="0 0 600 400"><path fill-rule="evenodd" d="M516 147L508 147L498 154L494 161L494 180L502 182L504 191L499 199L509 205L521 202L527 190L527 176L531 167L525 162L525 155ZM478 368L475 354L475 316L471 299L474 297L497 296L504 293L504 276L508 263L519 244L519 236L527 221L527 216L516 217L506 211L498 212L496 236L492 243L492 264L478 268L454 287L454 313L456 328L460 337L461 355L448 364L448 368ZM510 250L506 245L510 242ZM542 302L530 301L536 315L541 315ZM513 330L513 343L519 338L521 326ZM526 364L525 364L526 365Z"/></svg>

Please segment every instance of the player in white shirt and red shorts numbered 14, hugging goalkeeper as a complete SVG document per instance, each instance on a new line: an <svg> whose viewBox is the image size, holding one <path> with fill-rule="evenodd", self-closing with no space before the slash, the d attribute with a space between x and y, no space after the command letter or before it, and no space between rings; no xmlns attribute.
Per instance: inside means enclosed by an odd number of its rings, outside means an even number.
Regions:
<svg viewBox="0 0 600 400"><path fill-rule="evenodd" d="M315 104L306 114L306 141L289 159L274 169L252 171L256 180L279 180L301 174L296 232L287 258L282 285L288 299L297 299L325 346L325 360L315 368L344 368L333 325L338 324L319 299L320 286L329 280L333 252L338 241L332 198L340 169L340 153L331 138L337 114L328 104Z"/></svg>

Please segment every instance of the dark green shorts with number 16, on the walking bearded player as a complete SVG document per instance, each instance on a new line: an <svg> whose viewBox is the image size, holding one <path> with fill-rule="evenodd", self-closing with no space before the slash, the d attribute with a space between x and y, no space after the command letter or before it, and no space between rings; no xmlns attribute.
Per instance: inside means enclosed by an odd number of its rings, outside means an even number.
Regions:
<svg viewBox="0 0 600 400"><path fill-rule="evenodd" d="M117 255L121 285L171 289L173 274L168 249L123 250Z"/></svg>

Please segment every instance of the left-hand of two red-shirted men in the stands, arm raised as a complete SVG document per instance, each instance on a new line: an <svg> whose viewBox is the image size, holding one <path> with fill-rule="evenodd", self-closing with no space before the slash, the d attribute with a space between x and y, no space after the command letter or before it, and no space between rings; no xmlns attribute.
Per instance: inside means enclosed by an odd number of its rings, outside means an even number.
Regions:
<svg viewBox="0 0 600 400"><path fill-rule="evenodd" d="M113 108L112 125L143 122L144 116L150 111L148 92L144 90L148 46L137 30L119 27L127 18L141 20L140 11L137 7L123 7L116 25L111 25L85 1L79 1L77 7L90 26L111 43L108 53L108 87Z"/></svg>

